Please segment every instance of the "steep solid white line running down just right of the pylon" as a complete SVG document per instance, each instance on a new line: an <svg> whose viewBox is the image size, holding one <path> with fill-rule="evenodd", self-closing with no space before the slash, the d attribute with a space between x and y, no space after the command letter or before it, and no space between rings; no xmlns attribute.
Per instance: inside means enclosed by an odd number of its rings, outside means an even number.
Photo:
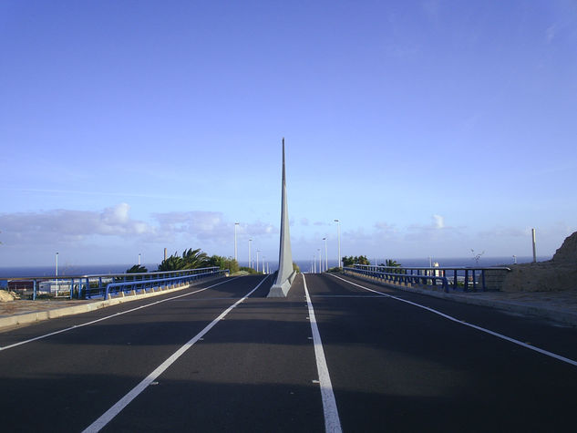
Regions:
<svg viewBox="0 0 577 433"><path fill-rule="evenodd" d="M338 409L336 408L335 393L333 392L333 384L331 383L331 376L328 373L328 366L326 366L325 351L323 350L323 342L321 341L321 334L316 325L316 318L314 316L313 303L311 296L306 287L306 279L303 275L304 294L306 296L306 304L308 306L308 316L311 322L311 330L313 332L314 356L316 357L316 369L318 370L318 379L321 387L321 397L323 399L323 411L325 413L325 431L330 433L341 432L341 420L338 416Z"/></svg>

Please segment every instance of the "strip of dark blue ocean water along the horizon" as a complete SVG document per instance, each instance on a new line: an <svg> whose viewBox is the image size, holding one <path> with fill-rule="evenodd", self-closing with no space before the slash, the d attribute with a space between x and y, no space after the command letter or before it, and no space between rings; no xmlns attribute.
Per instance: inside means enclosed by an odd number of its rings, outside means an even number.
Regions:
<svg viewBox="0 0 577 433"><path fill-rule="evenodd" d="M374 257L368 258L371 264L374 263L385 263L386 259L375 259ZM418 267L418 266L428 266L428 257L419 259L397 259L397 263L406 267ZM537 257L539 262L550 260L551 257ZM311 272L312 271L312 260L295 260L296 264L299 265L301 271ZM508 265L513 263L512 257L480 257L479 263L476 263L472 257L457 257L457 258L432 258L432 262L437 262L440 267L452 267L452 266L497 266L497 265ZM530 263L532 262L532 257L517 257L517 263ZM271 273L277 270L278 263L267 262L268 269ZM129 269L134 263L125 264L85 264L85 265L67 265L58 268L58 276L72 276L72 275L95 275L95 274L110 274L110 273L124 273ZM240 262L241 266L247 266L247 262ZM156 271L158 269L159 263L143 263L150 272ZM266 263L265 263L266 265ZM336 259L329 259L329 268L335 267L337 265ZM325 266L325 264L323 265ZM316 261L316 268L318 270L318 259ZM259 263L259 271L263 270L263 263ZM54 276L56 269L54 266L26 266L26 267L0 267L0 278L6 277L31 277L31 276Z"/></svg>

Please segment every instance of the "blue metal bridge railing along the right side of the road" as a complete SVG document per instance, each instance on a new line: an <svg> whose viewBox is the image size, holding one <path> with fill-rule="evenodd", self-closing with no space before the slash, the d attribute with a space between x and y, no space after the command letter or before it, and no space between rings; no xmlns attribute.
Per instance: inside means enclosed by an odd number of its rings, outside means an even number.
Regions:
<svg viewBox="0 0 577 433"><path fill-rule="evenodd" d="M345 272L360 274L386 284L416 285L460 292L499 290L508 267L398 267L355 264Z"/></svg>

